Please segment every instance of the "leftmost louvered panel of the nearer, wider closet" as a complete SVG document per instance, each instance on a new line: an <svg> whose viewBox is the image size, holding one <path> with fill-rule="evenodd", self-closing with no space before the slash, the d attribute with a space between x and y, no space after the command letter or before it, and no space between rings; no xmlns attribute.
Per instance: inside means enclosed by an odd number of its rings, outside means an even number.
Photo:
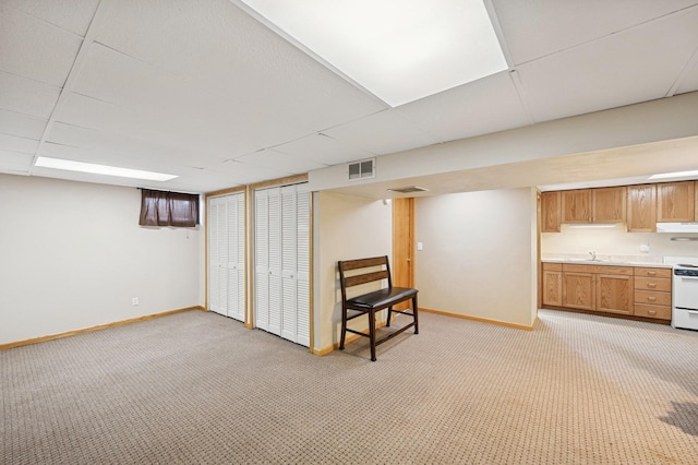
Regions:
<svg viewBox="0 0 698 465"><path fill-rule="evenodd" d="M269 330L268 191L254 193L254 325Z"/></svg>

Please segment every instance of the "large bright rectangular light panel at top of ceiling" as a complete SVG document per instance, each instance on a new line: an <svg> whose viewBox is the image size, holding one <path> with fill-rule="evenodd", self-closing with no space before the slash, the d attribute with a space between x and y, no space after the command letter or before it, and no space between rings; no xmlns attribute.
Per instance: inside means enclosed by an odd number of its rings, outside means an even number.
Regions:
<svg viewBox="0 0 698 465"><path fill-rule="evenodd" d="M393 107L508 68L483 0L233 1Z"/></svg>

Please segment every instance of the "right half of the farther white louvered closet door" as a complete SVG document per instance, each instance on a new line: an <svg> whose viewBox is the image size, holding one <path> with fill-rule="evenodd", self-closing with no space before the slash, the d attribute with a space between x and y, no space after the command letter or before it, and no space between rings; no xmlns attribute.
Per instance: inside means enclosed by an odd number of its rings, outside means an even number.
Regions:
<svg viewBox="0 0 698 465"><path fill-rule="evenodd" d="M244 321L244 196L226 195L228 317Z"/></svg>

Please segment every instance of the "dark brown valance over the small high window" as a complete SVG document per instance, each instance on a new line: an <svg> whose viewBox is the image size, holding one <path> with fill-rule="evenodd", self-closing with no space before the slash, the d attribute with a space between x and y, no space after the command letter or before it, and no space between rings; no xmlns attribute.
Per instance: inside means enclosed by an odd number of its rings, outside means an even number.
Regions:
<svg viewBox="0 0 698 465"><path fill-rule="evenodd" d="M141 189L141 226L194 227L198 195Z"/></svg>

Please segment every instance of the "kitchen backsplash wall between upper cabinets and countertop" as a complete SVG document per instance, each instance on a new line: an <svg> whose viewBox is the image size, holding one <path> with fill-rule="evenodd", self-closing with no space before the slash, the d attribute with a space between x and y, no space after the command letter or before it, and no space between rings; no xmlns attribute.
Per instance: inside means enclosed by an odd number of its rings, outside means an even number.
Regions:
<svg viewBox="0 0 698 465"><path fill-rule="evenodd" d="M543 258L555 254L586 255L590 251L598 255L628 255L633 261L661 262L664 255L698 257L698 241L672 241L672 237L696 237L698 234L626 233L622 226L615 228L569 228L563 225L562 233L543 233L541 252ZM649 245L648 253L640 246Z"/></svg>

